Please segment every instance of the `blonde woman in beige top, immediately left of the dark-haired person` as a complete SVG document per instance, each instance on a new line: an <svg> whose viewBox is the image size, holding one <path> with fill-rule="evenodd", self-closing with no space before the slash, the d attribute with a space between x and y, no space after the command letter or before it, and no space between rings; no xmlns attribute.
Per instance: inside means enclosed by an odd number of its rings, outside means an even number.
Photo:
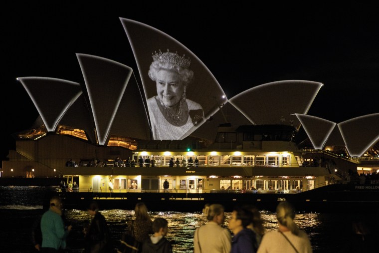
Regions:
<svg viewBox="0 0 379 253"><path fill-rule="evenodd" d="M205 205L202 210L208 222L195 230L194 253L230 253L231 236L224 224L224 207L220 204Z"/></svg>

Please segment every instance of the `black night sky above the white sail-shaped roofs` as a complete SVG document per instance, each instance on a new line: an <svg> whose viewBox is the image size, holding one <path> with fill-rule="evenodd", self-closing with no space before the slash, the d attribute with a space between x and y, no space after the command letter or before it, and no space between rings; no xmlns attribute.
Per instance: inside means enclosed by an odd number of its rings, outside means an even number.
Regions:
<svg viewBox="0 0 379 253"><path fill-rule="evenodd" d="M38 116L17 77L83 83L75 53L118 61L138 75L119 17L153 26L184 44L228 98L268 82L310 80L324 86L308 115L339 123L379 112L379 18L374 1L35 2L5 1L8 7L0 10L1 160L14 149L11 134L28 129Z"/></svg>

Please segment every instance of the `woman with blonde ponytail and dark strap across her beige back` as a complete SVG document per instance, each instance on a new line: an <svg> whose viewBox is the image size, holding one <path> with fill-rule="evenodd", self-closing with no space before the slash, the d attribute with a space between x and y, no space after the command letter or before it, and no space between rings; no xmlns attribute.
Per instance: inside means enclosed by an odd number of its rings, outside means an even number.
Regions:
<svg viewBox="0 0 379 253"><path fill-rule="evenodd" d="M308 235L299 230L294 222L295 210L289 202L282 201L278 204L276 218L279 230L267 232L263 236L257 253L312 253Z"/></svg>

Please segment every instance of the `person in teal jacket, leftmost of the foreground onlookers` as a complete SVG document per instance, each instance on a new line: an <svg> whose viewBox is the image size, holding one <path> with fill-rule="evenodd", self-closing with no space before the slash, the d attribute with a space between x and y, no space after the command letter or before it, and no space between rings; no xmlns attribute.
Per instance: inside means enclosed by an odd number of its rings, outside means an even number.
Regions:
<svg viewBox="0 0 379 253"><path fill-rule="evenodd" d="M59 196L50 199L50 207L41 218L41 252L53 253L66 248L66 238L72 225L65 227L62 219L62 201Z"/></svg>

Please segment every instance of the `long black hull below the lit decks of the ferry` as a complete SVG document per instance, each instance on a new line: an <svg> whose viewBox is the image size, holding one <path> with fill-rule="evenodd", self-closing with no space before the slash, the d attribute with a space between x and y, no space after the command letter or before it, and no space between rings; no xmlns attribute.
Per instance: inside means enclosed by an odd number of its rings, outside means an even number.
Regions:
<svg viewBox="0 0 379 253"><path fill-rule="evenodd" d="M280 201L291 202L298 212L377 212L379 185L330 185L297 194L284 193L61 193L66 209L86 210L90 201L101 209L134 210L144 202L150 211L201 212L205 204L222 204L226 212L236 205L254 205L275 212Z"/></svg>

